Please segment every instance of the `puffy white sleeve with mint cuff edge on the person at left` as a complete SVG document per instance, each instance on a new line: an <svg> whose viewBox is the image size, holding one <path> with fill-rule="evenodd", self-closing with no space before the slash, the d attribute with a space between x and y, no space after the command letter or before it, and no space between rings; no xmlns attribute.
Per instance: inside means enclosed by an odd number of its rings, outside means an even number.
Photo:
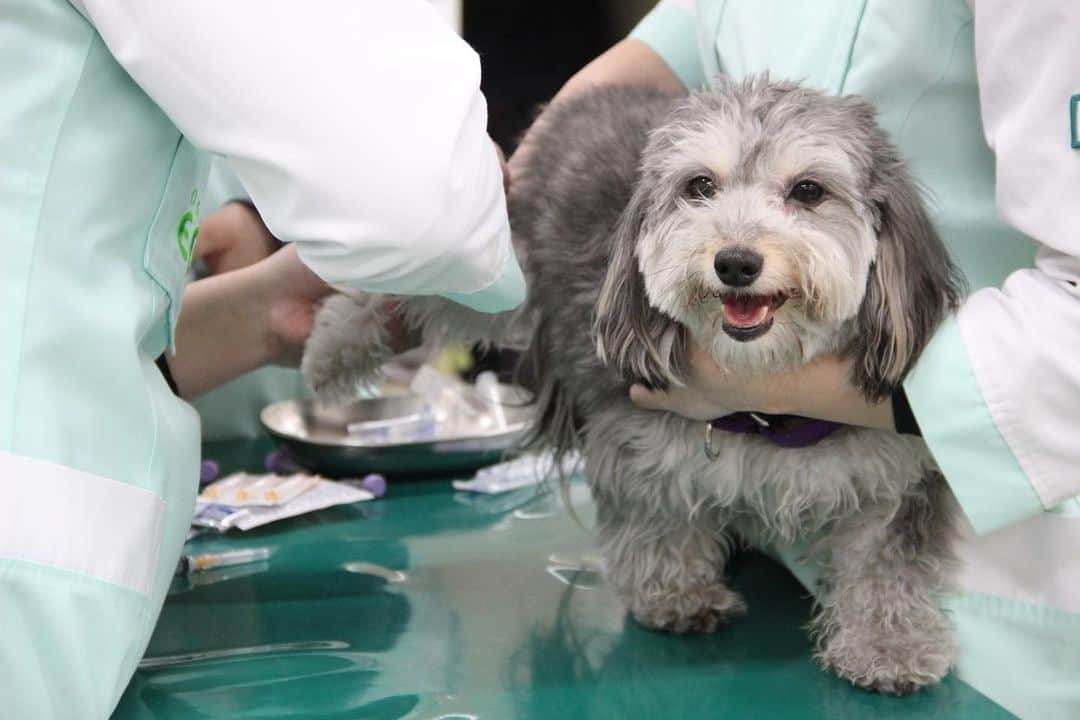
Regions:
<svg viewBox="0 0 1080 720"><path fill-rule="evenodd" d="M522 300L480 60L424 0L80 10L324 280L487 311Z"/></svg>

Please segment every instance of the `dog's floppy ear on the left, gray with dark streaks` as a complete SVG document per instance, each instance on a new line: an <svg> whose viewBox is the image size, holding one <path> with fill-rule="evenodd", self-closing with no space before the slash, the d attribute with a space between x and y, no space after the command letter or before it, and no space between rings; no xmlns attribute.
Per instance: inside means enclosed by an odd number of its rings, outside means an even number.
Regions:
<svg viewBox="0 0 1080 720"><path fill-rule="evenodd" d="M648 192L638 182L611 237L607 275L596 301L593 336L600 362L629 382L666 389L678 382L685 332L649 302L637 260L637 242L647 232Z"/></svg>

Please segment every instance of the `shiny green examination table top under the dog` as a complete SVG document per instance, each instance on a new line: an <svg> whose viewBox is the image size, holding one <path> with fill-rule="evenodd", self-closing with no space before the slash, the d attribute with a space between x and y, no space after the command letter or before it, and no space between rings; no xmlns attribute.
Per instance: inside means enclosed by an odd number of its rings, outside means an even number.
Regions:
<svg viewBox="0 0 1080 720"><path fill-rule="evenodd" d="M260 470L268 441L207 445ZM590 516L588 493L575 492ZM629 621L552 494L472 497L448 478L228 535L249 566L174 582L114 720L1012 717L955 678L910 697L814 664L807 593L756 554L729 569L750 612L712 636Z"/></svg>

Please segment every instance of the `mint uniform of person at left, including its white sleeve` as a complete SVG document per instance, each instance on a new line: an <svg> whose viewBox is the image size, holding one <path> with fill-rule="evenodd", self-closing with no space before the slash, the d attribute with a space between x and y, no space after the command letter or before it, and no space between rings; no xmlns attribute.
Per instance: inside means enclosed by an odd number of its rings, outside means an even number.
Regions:
<svg viewBox="0 0 1080 720"><path fill-rule="evenodd" d="M500 311L524 281L478 58L423 0L8 0L0 98L0 715L105 718L194 502L154 359L208 153L329 282Z"/></svg>

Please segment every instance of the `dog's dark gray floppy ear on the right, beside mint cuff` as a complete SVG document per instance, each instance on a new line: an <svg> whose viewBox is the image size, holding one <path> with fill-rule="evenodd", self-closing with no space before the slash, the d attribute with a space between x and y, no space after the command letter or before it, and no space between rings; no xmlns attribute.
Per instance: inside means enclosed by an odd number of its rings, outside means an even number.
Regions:
<svg viewBox="0 0 1080 720"><path fill-rule="evenodd" d="M869 198L878 250L856 320L854 380L867 399L892 394L963 295L963 279L888 144L876 158Z"/></svg>

